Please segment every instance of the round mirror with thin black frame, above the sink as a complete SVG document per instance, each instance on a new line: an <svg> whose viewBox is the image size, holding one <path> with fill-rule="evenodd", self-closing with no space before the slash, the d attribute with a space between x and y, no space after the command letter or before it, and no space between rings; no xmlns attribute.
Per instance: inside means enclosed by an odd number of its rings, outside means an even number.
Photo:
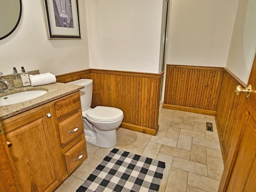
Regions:
<svg viewBox="0 0 256 192"><path fill-rule="evenodd" d="M18 26L22 12L21 0L0 0L0 40Z"/></svg>

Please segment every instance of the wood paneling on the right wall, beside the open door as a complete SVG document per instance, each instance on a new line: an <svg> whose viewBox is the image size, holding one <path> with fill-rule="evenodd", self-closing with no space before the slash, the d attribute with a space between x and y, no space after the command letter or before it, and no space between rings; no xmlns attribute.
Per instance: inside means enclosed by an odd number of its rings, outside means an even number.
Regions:
<svg viewBox="0 0 256 192"><path fill-rule="evenodd" d="M226 162L230 150L232 137L235 131L234 128L236 127L238 114L242 106L243 95L235 94L237 85L242 85L244 88L246 87L244 82L238 79L228 69L224 68L215 116L224 162Z"/></svg>

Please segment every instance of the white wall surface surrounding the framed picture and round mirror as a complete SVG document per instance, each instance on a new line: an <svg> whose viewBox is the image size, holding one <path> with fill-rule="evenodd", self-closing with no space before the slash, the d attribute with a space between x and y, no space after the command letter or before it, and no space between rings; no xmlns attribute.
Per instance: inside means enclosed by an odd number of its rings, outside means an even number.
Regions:
<svg viewBox="0 0 256 192"><path fill-rule="evenodd" d="M0 72L11 74L12 67L58 75L90 68L85 1L79 1L82 40L49 40L43 0L22 0L18 28L0 40Z"/></svg>

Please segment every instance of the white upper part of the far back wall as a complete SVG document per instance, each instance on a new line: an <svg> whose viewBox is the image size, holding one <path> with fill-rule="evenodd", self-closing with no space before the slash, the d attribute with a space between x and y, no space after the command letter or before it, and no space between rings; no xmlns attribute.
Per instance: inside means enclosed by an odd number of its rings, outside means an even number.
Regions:
<svg viewBox="0 0 256 192"><path fill-rule="evenodd" d="M238 0L172 0L167 64L225 67Z"/></svg>

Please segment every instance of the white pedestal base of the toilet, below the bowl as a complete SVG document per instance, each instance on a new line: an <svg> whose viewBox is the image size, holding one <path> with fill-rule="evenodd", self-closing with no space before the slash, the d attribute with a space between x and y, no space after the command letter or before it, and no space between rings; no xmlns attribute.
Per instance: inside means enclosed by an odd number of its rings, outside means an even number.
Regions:
<svg viewBox="0 0 256 192"><path fill-rule="evenodd" d="M116 129L111 131L93 132L92 130L84 130L86 142L102 148L114 147L117 144Z"/></svg>

